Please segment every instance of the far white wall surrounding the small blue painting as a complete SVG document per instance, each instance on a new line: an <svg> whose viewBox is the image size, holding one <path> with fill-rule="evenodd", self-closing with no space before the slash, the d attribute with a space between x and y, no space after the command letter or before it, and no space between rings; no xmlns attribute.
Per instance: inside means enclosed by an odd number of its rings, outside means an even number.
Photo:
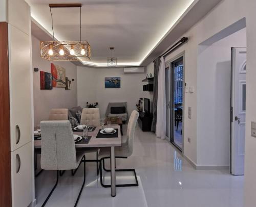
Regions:
<svg viewBox="0 0 256 207"><path fill-rule="evenodd" d="M142 80L145 73L124 74L123 68L77 67L78 105L98 102L101 117L105 116L109 102L127 102L128 113L136 110L136 104L143 96ZM121 88L105 88L105 77L121 77Z"/></svg>

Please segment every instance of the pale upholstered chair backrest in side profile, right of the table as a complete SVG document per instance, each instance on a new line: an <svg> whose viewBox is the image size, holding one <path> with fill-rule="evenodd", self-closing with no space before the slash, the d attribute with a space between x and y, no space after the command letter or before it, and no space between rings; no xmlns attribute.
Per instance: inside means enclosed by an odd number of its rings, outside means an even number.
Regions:
<svg viewBox="0 0 256 207"><path fill-rule="evenodd" d="M138 117L139 117L139 112L134 110L129 118L129 122L127 125L127 143L128 143L130 155L133 153L133 140L134 140L135 127L136 127Z"/></svg>

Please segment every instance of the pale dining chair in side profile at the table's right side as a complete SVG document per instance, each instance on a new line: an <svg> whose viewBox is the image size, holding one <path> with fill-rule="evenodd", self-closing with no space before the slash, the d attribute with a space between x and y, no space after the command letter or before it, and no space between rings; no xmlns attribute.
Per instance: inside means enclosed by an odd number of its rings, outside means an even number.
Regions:
<svg viewBox="0 0 256 207"><path fill-rule="evenodd" d="M135 127L136 123L139 117L139 113L137 111L133 111L128 125L127 125L127 140L126 142L122 143L121 147L115 147L115 159L120 158L120 159L127 159L130 157L133 153L133 141L134 141L134 134L135 134ZM99 171L100 171L100 184L104 188L110 188L111 185L105 185L103 184L103 178L102 178L102 167L105 171L110 171L109 169L106 169L104 164L105 164L105 159L110 159L110 148L104 147L101 148L99 151L99 157L100 157L100 166L99 166ZM122 184L122 185L116 185L116 187L130 187L130 186L139 186L137 175L135 169L116 169L116 171L132 171L134 172L135 184Z"/></svg>

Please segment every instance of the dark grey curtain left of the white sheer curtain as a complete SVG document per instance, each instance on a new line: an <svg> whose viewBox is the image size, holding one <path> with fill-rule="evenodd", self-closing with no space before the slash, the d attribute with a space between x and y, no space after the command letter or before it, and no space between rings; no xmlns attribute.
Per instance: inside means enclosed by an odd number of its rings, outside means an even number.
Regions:
<svg viewBox="0 0 256 207"><path fill-rule="evenodd" d="M156 132L157 125L157 90L158 90L158 71L161 60L158 57L154 60L154 91L153 91L153 121L151 125L151 131Z"/></svg>

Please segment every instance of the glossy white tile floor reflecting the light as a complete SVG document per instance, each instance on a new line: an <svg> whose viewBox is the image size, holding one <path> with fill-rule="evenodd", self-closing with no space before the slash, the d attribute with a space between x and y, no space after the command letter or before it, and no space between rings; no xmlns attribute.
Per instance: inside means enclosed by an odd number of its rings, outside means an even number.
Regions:
<svg viewBox="0 0 256 207"><path fill-rule="evenodd" d="M86 163L86 187L78 206L243 206L243 176L231 176L228 170L195 170L179 153L182 171L175 171L175 151L166 140L157 139L153 133L142 132L137 127L133 155L127 160L118 160L117 167L135 168L139 187L117 188L116 197L111 197L110 189L99 184L96 164ZM133 181L130 175L118 173L117 183ZM109 174L106 174L105 182L108 183L108 180ZM52 171L44 171L36 178L37 206L44 202L54 182L55 172ZM46 206L73 206L81 182L82 167L74 177L66 171Z"/></svg>

